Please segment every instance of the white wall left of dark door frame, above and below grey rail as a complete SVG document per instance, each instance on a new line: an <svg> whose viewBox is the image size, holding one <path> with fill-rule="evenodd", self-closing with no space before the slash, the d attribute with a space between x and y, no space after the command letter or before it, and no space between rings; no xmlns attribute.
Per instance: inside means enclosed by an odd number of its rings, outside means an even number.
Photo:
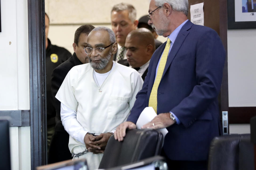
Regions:
<svg viewBox="0 0 256 170"><path fill-rule="evenodd" d="M29 47L26 0L1 1L0 110L29 110ZM11 127L11 168L31 169L30 127Z"/></svg>

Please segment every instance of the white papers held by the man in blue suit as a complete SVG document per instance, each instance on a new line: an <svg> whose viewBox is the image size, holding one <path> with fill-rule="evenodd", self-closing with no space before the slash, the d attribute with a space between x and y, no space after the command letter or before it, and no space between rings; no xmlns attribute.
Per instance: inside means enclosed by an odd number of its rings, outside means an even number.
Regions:
<svg viewBox="0 0 256 170"><path fill-rule="evenodd" d="M139 118L136 123L136 128L141 129L141 126L150 122L155 116L157 116L157 114L155 113L154 109L152 107L146 107L139 115ZM165 135L168 133L168 130L166 128L156 130L163 134L163 139L165 138Z"/></svg>

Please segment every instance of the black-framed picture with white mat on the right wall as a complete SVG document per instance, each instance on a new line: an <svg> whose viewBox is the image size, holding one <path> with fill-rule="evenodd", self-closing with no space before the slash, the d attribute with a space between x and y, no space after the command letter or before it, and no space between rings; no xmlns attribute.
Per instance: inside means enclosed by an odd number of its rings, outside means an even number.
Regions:
<svg viewBox="0 0 256 170"><path fill-rule="evenodd" d="M228 29L256 28L256 0L227 1Z"/></svg>

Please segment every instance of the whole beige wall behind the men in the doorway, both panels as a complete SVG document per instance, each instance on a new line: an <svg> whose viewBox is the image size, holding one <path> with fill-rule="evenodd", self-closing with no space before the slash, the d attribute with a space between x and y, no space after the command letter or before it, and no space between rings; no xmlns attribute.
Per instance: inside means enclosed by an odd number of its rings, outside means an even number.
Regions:
<svg viewBox="0 0 256 170"><path fill-rule="evenodd" d="M45 0L45 12L50 18L48 37L51 43L66 48L73 53L75 30L82 24L92 24L95 27L105 26L111 28L110 11L113 5L121 2L131 3L137 10L137 19L148 14L149 0L140 1L68 1ZM86 10L85 10L86 9ZM166 38L158 36L161 42Z"/></svg>

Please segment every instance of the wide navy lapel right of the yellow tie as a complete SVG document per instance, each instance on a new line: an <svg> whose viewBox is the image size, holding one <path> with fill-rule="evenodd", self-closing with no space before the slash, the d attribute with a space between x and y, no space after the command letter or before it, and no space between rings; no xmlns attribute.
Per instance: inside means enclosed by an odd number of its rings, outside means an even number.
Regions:
<svg viewBox="0 0 256 170"><path fill-rule="evenodd" d="M173 61L174 57L176 56L179 48L181 47L183 41L185 40L185 38L187 37L187 35L189 34L189 29L191 28L191 26L193 25L193 23L191 23L190 21L187 21L183 27L181 28L181 30L179 31L175 42L171 48L170 54L167 57L167 61L165 64L165 69L163 71L163 75L165 75L167 69L170 67L171 62Z"/></svg>

